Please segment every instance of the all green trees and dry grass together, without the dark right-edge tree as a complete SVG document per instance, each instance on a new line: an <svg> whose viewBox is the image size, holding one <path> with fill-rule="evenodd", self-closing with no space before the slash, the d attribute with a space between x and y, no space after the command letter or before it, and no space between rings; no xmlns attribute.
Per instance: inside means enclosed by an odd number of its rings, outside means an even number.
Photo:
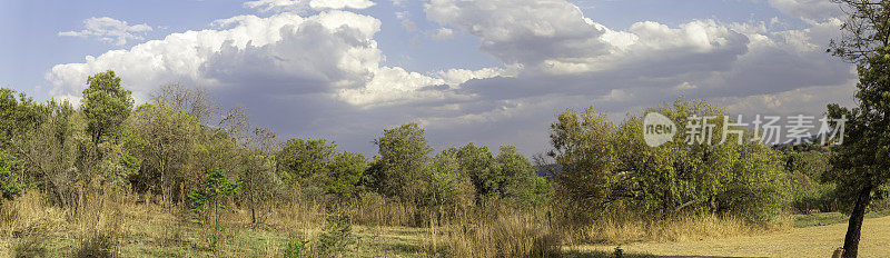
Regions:
<svg viewBox="0 0 890 258"><path fill-rule="evenodd" d="M0 252L574 256L563 247L788 228L791 212L849 210L851 187L863 180L876 180L869 200L887 192L883 173L857 167L859 152L846 143L720 145L723 135L753 135L732 120L715 120L713 138L690 145L678 135L652 148L644 113L613 123L593 107L570 109L556 115L552 149L534 163L511 145L435 151L408 123L385 129L366 158L325 139L279 140L250 125L244 107L222 109L200 89L162 86L134 107L112 71L87 82L80 106L0 90ZM646 112L679 131L694 125L690 117L725 113L682 98ZM862 128L851 130L852 145L871 142Z"/></svg>

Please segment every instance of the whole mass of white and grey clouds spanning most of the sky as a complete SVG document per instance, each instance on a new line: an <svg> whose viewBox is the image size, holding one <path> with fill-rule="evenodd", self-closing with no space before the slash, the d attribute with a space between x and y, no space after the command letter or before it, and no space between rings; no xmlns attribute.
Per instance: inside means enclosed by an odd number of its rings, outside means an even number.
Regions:
<svg viewBox="0 0 890 258"><path fill-rule="evenodd" d="M565 108L622 116L683 95L739 112L821 110L851 89L850 67L824 53L840 20L809 12L799 14L810 17L807 28L793 30L716 18L617 30L563 0L431 0L426 18L442 29L428 37L469 34L503 66L413 71L384 64L380 20L332 10L365 1L312 2L251 1L245 6L277 13L58 64L47 73L50 93L77 96L87 76L113 69L137 97L171 80L209 88L283 136L334 137L367 151L380 129L418 121L434 143L515 143L533 153ZM787 100L794 96L805 98Z"/></svg>

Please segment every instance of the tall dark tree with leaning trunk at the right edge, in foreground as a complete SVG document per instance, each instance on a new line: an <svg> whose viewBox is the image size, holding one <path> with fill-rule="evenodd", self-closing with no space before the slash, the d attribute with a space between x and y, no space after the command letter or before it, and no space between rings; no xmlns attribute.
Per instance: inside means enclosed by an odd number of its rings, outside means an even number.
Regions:
<svg viewBox="0 0 890 258"><path fill-rule="evenodd" d="M874 190L890 180L890 1L834 0L848 14L843 34L829 51L857 66L857 107L829 105L834 119L847 119L828 181L838 183L841 204L853 204L843 257L857 257L866 209ZM837 126L837 123L834 123ZM843 132L840 132L843 133Z"/></svg>

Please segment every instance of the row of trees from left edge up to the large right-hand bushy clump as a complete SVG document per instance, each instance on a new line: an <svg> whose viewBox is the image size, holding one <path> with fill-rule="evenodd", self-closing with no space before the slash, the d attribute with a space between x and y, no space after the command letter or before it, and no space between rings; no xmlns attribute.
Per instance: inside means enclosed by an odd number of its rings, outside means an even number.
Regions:
<svg viewBox="0 0 890 258"><path fill-rule="evenodd" d="M467 143L434 153L415 123L387 129L373 158L324 139L281 142L243 107L219 108L206 91L160 87L136 106L113 71L88 78L79 106L38 103L0 90L0 182L4 199L36 188L77 210L85 192L144 201L195 202L215 171L237 186L239 207L293 200L345 202L375 195L417 206L471 207L486 200L537 206L550 185L513 146L498 155ZM151 199L155 198L155 199ZM256 215L254 220L256 220Z"/></svg>

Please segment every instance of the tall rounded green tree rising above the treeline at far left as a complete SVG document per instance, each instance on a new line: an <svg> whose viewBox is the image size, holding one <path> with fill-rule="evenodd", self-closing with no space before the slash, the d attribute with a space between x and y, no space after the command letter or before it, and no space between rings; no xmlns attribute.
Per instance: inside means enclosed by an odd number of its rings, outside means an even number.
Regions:
<svg viewBox="0 0 890 258"><path fill-rule="evenodd" d="M87 116L87 131L98 145L102 137L113 136L130 116L134 100L120 86L115 71L99 72L87 79L81 110Z"/></svg>

